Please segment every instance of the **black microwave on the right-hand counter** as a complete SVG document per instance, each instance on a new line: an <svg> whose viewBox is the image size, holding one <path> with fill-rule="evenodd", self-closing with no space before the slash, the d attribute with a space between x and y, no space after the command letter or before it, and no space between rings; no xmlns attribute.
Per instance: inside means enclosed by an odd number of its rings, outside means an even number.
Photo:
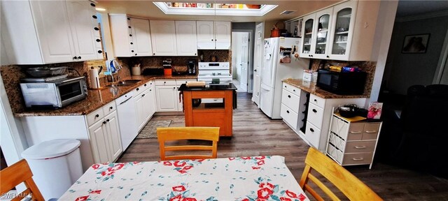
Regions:
<svg viewBox="0 0 448 201"><path fill-rule="evenodd" d="M367 73L319 69L316 86L339 95L362 95Z"/></svg>

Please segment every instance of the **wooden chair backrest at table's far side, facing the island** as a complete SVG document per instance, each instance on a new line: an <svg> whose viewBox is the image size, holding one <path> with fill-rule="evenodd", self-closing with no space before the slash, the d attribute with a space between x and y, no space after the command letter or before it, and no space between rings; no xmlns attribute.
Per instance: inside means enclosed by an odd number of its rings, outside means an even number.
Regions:
<svg viewBox="0 0 448 201"><path fill-rule="evenodd" d="M160 160L216 158L219 140L219 127L167 127L157 128L160 144ZM207 140L211 145L176 145L165 146L165 142L173 140ZM165 151L211 151L211 155L175 155L165 156Z"/></svg>

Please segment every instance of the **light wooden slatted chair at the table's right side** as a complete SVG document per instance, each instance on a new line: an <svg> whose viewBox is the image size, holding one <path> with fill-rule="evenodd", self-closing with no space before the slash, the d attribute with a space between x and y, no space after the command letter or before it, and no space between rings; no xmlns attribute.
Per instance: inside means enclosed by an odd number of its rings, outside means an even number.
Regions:
<svg viewBox="0 0 448 201"><path fill-rule="evenodd" d="M339 188L349 200L382 200L377 193L374 193L367 185L356 178L349 171L342 168L341 165L332 161L330 158L322 154L313 147L309 148L307 158L305 159L305 169L300 179L300 187L303 191L308 191L316 200L323 200L321 195L318 195L308 181L311 180L321 188L321 190L328 195L332 200L340 200L336 197L330 188L325 186L322 181L319 181L314 174L311 174L311 169L316 170L328 179L332 184Z"/></svg>

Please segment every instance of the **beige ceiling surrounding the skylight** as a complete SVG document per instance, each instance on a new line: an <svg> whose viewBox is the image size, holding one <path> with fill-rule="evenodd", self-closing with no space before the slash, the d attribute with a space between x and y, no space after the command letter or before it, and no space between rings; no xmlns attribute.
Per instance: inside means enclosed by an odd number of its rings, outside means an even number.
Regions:
<svg viewBox="0 0 448 201"><path fill-rule="evenodd" d="M97 7L106 8L106 13L126 13L134 17L144 17L153 20L230 20L232 22L261 22L290 20L300 17L314 10L325 8L342 0L325 1L176 1L176 2L196 2L196 3L244 3L244 4L277 4L276 8L262 17L241 17L241 16L204 16L204 15L165 15L157 8L153 1L111 1L97 0ZM284 10L296 10L288 15L280 15Z"/></svg>

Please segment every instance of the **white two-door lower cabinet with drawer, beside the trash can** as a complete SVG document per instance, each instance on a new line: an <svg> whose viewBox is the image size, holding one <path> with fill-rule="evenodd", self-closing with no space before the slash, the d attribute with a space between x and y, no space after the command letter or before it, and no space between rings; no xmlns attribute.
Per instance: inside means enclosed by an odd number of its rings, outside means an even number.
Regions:
<svg viewBox="0 0 448 201"><path fill-rule="evenodd" d="M118 117L117 112L115 110L115 101L108 105L95 110L94 112L87 114L87 124L90 125L92 118L89 117L97 117L94 119L94 123L89 126L89 138L90 138L90 146L92 148L92 154L94 157L95 163L112 163L116 161L118 156L123 152L121 137L120 137L120 128L118 127ZM111 110L112 112L106 111ZM106 114L102 118L100 117L100 113Z"/></svg>

